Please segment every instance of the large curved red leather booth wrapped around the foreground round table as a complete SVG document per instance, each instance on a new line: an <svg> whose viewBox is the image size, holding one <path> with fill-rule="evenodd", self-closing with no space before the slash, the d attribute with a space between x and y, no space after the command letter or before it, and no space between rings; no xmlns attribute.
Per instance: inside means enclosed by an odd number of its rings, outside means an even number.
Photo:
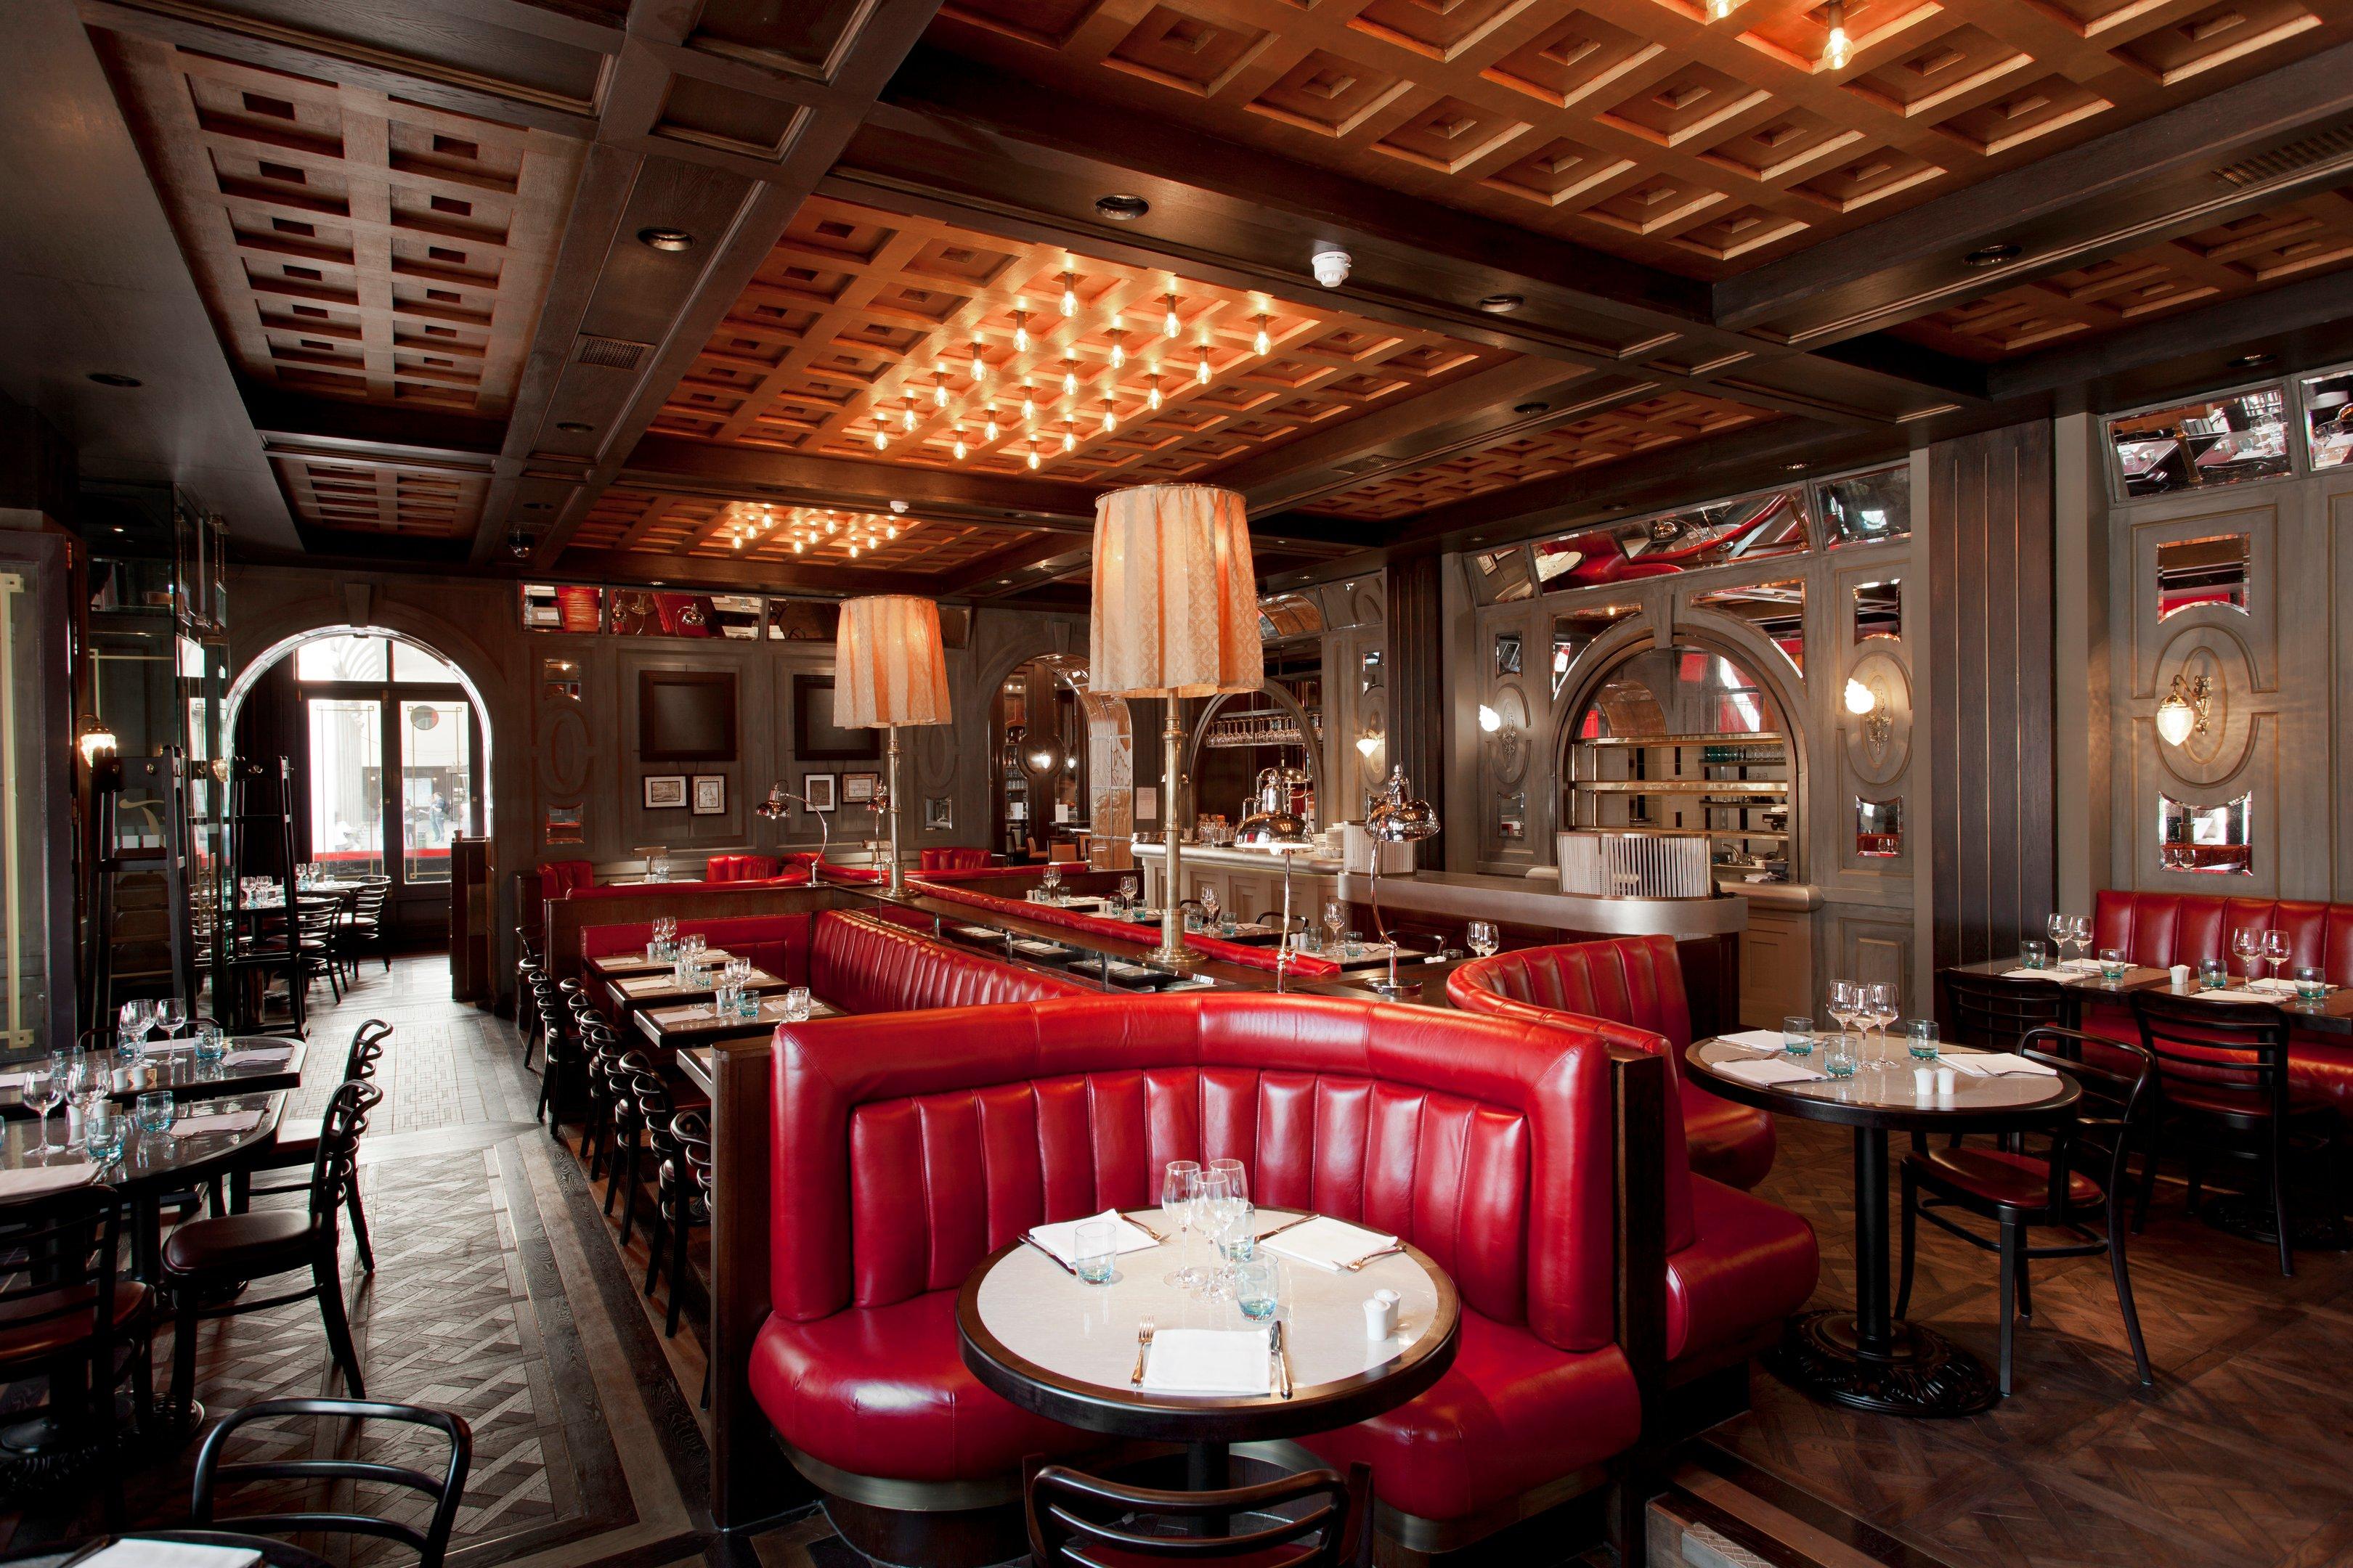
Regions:
<svg viewBox="0 0 2353 1568"><path fill-rule="evenodd" d="M1009 1476L1099 1439L1000 1408L953 1295L1024 1227L1146 1206L1167 1159L1398 1232L1461 1288L1454 1368L1311 1439L1461 1519L1628 1448L1612 1342L1607 1046L1593 1030L1325 997L1075 997L776 1030L772 1316L751 1392L854 1474Z"/></svg>

